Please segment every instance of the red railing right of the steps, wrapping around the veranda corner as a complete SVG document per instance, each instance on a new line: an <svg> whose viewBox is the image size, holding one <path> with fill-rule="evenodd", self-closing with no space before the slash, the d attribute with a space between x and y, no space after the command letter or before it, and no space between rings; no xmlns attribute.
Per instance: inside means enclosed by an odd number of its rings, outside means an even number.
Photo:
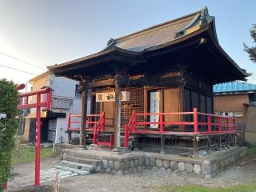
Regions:
<svg viewBox="0 0 256 192"><path fill-rule="evenodd" d="M149 121L136 121L136 117L159 115L158 122ZM193 116L193 121L182 121L182 122L166 122L164 117L166 115L170 116ZM183 117L185 118L185 117ZM198 122L199 119L199 122ZM202 121L205 119L205 121ZM224 121L223 121L224 120ZM150 126L158 125L159 128L156 130L140 129L138 130L136 126ZM165 130L165 126L193 126L192 131L170 131ZM206 130L199 130L198 126L206 126ZM217 126L217 130L214 130L214 126ZM197 108L194 108L193 112L175 112L175 113L146 113L137 114L133 112L130 122L125 126L125 143L124 146L128 147L128 139L130 134L169 134L169 135L212 135L212 134L233 134L236 133L235 118L229 116L219 116L214 114L205 114L198 112Z"/></svg>

